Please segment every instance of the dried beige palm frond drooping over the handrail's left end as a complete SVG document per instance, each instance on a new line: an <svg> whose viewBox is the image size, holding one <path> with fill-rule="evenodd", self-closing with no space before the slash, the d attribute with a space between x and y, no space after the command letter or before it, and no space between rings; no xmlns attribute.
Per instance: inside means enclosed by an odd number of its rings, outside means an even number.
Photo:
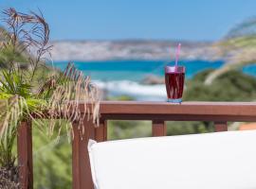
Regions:
<svg viewBox="0 0 256 189"><path fill-rule="evenodd" d="M63 117L68 122L76 121L82 125L82 120L87 115L96 126L99 125L100 92L91 84L90 78L83 77L82 72L73 64L69 63L64 74L55 77L42 89L44 90L40 90L41 93L44 91L43 93L50 94L47 106L50 119ZM50 130L54 130L54 126L55 124L52 124Z"/></svg>

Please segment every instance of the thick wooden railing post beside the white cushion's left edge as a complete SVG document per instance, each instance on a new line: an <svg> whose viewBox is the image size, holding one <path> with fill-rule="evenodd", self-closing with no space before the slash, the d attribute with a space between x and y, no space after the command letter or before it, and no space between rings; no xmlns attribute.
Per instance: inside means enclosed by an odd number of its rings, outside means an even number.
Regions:
<svg viewBox="0 0 256 189"><path fill-rule="evenodd" d="M73 189L93 189L89 154L87 150L88 140L95 140L95 126L91 120L85 118L82 128L78 123L73 123L74 139L72 142L72 176Z"/></svg>

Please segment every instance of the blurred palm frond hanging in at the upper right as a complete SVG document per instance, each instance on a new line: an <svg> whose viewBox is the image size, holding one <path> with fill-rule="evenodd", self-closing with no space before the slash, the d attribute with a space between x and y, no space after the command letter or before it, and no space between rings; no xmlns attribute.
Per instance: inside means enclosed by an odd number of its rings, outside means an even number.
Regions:
<svg viewBox="0 0 256 189"><path fill-rule="evenodd" d="M207 85L230 70L237 70L256 62L256 18L250 18L234 26L225 39L214 45L220 48L222 56L227 57L227 62L206 77L205 84Z"/></svg>

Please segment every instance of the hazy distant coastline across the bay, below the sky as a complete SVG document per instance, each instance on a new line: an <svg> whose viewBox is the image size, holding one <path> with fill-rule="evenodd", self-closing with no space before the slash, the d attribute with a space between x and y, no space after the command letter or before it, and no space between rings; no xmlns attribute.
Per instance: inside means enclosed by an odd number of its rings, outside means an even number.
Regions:
<svg viewBox="0 0 256 189"><path fill-rule="evenodd" d="M223 60L211 42L181 42L183 60ZM177 42L156 40L53 41L52 60L174 60Z"/></svg>

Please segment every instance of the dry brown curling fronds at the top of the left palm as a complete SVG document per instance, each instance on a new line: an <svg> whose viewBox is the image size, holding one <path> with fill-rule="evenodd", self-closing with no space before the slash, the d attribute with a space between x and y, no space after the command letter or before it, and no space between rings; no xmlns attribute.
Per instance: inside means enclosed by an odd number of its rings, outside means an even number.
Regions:
<svg viewBox="0 0 256 189"><path fill-rule="evenodd" d="M28 62L32 68L31 78L33 79L41 59L50 55L51 46L48 45L49 26L40 12L30 12L25 14L16 11L16 9L5 9L3 11L2 20L8 26L8 42L4 42L4 46L13 46L14 52L19 54L28 53L32 56L27 56ZM13 66L10 61L11 66Z"/></svg>

